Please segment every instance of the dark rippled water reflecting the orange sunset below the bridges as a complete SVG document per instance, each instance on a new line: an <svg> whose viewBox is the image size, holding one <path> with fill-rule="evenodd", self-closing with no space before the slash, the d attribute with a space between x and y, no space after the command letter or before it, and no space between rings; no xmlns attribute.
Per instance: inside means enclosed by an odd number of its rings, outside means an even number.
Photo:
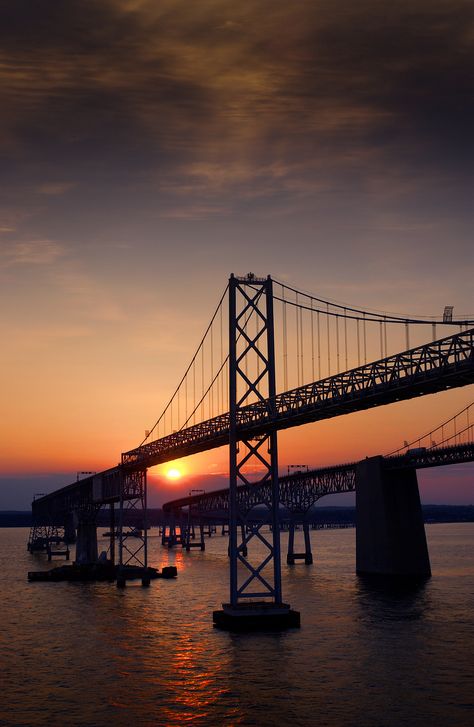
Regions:
<svg viewBox="0 0 474 727"><path fill-rule="evenodd" d="M283 566L301 629L247 635L211 625L226 538L186 553L154 535L178 579L120 590L28 583L46 559L27 534L0 530L1 725L474 724L474 524L427 526L433 577L405 592L357 578L354 530L313 533L315 564Z"/></svg>

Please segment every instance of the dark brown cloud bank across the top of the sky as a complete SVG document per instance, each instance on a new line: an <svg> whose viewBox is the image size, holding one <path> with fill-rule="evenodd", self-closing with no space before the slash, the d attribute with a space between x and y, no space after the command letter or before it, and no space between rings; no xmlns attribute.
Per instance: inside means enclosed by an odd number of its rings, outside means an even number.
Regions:
<svg viewBox="0 0 474 727"><path fill-rule="evenodd" d="M237 191L255 206L382 168L396 184L469 177L467 0L15 0L1 13L10 184L112 178L142 195L151 180L167 207L193 190L228 209Z"/></svg>

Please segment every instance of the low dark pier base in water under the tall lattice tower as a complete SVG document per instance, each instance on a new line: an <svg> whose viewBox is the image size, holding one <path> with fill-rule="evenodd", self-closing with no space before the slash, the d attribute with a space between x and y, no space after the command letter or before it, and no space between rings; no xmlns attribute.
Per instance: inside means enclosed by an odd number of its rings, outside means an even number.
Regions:
<svg viewBox="0 0 474 727"><path fill-rule="evenodd" d="M284 631L299 628L299 611L293 611L286 603L265 601L241 603L232 606L223 603L221 611L212 614L214 626L226 631Z"/></svg>

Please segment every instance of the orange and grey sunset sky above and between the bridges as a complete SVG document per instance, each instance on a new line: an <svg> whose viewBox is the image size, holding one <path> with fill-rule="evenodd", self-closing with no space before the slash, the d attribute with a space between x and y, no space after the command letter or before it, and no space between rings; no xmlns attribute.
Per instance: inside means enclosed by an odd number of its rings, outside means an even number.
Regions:
<svg viewBox="0 0 474 727"><path fill-rule="evenodd" d="M115 465L229 274L474 314L470 0L6 0L0 509ZM399 446L474 387L283 433L280 465ZM151 502L223 486L188 458ZM442 473L442 475L441 475ZM442 477L442 480L440 480ZM425 472L472 503L472 467Z"/></svg>

